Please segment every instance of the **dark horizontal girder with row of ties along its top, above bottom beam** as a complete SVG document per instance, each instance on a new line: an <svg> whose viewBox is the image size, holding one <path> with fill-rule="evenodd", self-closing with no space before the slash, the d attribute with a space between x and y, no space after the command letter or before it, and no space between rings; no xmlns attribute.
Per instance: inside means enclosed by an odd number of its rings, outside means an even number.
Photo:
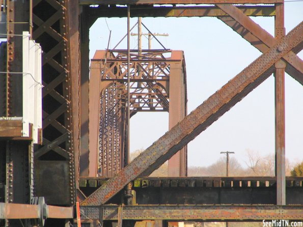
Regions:
<svg viewBox="0 0 303 227"><path fill-rule="evenodd" d="M286 178L287 205L303 205L302 181L303 177ZM276 205L276 182L276 177L147 177L134 180L132 190L138 205ZM105 183L104 178L81 178L79 186L89 196ZM121 192L109 200L120 202Z"/></svg>

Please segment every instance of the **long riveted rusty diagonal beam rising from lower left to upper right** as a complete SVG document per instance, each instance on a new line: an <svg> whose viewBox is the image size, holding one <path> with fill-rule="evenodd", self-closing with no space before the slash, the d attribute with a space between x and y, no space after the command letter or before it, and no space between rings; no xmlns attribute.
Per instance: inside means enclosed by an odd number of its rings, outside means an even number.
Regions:
<svg viewBox="0 0 303 227"><path fill-rule="evenodd" d="M232 106L255 89L274 71L274 63L303 41L303 22L287 36L263 53L251 65L205 100L170 131L92 193L81 205L105 204L125 185L140 176L147 176L199 135ZM280 52L278 50L282 49Z"/></svg>

